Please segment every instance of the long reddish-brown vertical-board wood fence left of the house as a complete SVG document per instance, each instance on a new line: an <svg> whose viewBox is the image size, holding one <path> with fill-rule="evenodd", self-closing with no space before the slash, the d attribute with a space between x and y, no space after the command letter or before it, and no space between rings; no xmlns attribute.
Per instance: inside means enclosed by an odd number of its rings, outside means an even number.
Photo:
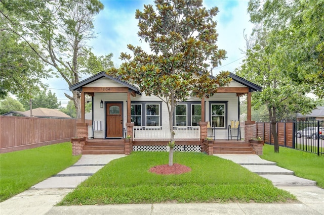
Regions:
<svg viewBox="0 0 324 215"><path fill-rule="evenodd" d="M0 116L0 153L70 141L75 119Z"/></svg>

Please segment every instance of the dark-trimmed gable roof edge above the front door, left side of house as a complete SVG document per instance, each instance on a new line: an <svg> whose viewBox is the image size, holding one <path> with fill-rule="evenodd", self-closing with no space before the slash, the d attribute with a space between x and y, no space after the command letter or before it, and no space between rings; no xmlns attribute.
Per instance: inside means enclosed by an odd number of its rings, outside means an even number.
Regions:
<svg viewBox="0 0 324 215"><path fill-rule="evenodd" d="M124 85L124 86L126 86L126 87L128 87L128 88L130 88L132 90L134 90L135 93L137 93L139 95L142 94L140 92L140 90L137 87L135 87L134 85L129 84L126 81L122 81L118 77L114 78L114 77L112 77L110 75L107 75L106 72L104 72L104 71L102 71L102 72L100 72L100 73L98 73L98 74L96 74L94 76L91 76L90 78L87 78L87 79L85 79L83 81L80 81L80 82L78 82L76 84L73 84L72 86L69 87L69 89L70 90L77 90L77 91L81 92L83 86L85 86L87 84L90 84L90 83L92 83L92 82L94 82L94 81L96 81L96 80L98 80L100 78L103 78L103 77L109 78L109 79L111 79L111 80L113 80L113 81L115 81L115 82L117 82L119 84L122 84L122 85Z"/></svg>

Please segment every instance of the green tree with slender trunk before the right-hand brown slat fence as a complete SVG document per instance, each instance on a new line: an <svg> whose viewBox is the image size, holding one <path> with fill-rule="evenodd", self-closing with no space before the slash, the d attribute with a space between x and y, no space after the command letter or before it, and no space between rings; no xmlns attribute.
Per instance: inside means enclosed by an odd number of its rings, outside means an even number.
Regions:
<svg viewBox="0 0 324 215"><path fill-rule="evenodd" d="M292 84L292 78L283 72L289 66L278 59L279 42L280 38L276 37L275 31L262 28L253 48L246 51L247 59L236 71L240 77L262 87L262 92L253 94L253 105L256 109L263 104L267 105L275 152L279 152L276 131L278 113L310 112L316 105L312 99L305 96L309 87Z"/></svg>

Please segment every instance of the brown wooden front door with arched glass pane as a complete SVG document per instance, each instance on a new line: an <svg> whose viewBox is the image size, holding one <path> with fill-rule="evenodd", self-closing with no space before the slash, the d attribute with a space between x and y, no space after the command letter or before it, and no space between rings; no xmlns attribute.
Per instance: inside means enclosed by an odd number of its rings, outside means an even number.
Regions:
<svg viewBox="0 0 324 215"><path fill-rule="evenodd" d="M106 103L106 137L123 137L123 103Z"/></svg>

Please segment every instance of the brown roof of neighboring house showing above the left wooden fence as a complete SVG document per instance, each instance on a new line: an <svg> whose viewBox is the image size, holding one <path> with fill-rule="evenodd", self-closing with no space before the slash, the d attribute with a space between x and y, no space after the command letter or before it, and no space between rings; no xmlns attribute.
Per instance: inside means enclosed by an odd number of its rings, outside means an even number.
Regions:
<svg viewBox="0 0 324 215"><path fill-rule="evenodd" d="M56 110L56 109L47 109L47 108L36 108L31 110L32 117L37 118L56 118L56 119L67 119L71 118L67 114ZM21 116L21 117L30 117L30 110L21 112L21 111L11 111L3 116Z"/></svg>

